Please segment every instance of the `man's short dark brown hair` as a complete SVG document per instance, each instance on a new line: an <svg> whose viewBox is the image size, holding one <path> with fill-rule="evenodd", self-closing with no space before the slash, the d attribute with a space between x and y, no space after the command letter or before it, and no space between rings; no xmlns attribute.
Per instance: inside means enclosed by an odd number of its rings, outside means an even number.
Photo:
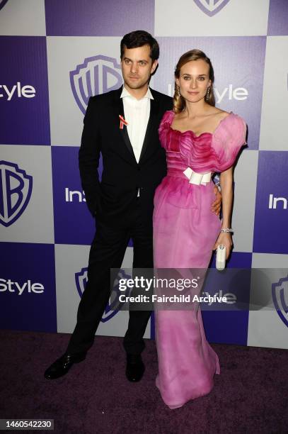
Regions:
<svg viewBox="0 0 288 434"><path fill-rule="evenodd" d="M138 48L143 45L149 45L150 57L152 61L159 58L159 45L155 38L145 30L134 30L134 32L127 33L123 36L120 43L121 59L124 55L125 48Z"/></svg>

